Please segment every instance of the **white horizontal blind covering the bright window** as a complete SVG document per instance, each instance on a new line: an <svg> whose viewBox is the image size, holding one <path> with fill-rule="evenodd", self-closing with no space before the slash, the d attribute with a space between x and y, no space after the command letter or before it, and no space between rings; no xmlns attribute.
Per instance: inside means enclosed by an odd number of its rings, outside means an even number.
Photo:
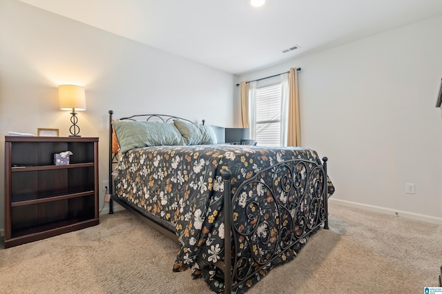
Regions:
<svg viewBox="0 0 442 294"><path fill-rule="evenodd" d="M280 146L281 84L256 89L256 140L262 146Z"/></svg>

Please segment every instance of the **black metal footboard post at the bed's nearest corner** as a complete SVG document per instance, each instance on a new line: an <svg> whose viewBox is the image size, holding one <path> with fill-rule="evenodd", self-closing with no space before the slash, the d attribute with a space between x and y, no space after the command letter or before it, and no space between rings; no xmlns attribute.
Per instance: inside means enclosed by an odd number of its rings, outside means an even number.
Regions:
<svg viewBox="0 0 442 294"><path fill-rule="evenodd" d="M231 211L230 198L231 187L230 180L232 173L229 169L222 171L222 180L224 181L224 293L230 294L232 291L232 256L231 256Z"/></svg>

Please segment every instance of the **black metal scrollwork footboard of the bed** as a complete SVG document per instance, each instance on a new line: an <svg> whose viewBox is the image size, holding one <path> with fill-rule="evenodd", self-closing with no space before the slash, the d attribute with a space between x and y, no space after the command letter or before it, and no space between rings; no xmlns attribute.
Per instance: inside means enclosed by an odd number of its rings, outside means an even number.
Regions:
<svg viewBox="0 0 442 294"><path fill-rule="evenodd" d="M324 166L309 160L279 162L232 189L232 289L304 242L321 224L328 229L327 158L323 160Z"/></svg>

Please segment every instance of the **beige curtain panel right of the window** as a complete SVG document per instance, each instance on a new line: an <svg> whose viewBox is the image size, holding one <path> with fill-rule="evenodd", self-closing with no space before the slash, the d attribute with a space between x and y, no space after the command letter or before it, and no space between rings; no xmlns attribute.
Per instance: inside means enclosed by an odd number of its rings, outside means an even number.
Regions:
<svg viewBox="0 0 442 294"><path fill-rule="evenodd" d="M287 146L300 146L300 118L298 95L298 72L291 67L289 72L289 125L287 128Z"/></svg>

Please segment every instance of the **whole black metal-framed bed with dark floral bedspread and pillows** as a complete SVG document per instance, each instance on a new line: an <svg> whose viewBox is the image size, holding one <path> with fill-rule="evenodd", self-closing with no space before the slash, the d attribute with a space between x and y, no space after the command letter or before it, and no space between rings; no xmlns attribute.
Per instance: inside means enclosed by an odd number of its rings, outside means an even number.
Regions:
<svg viewBox="0 0 442 294"><path fill-rule="evenodd" d="M244 293L328 229L334 186L314 150L219 144L211 129L109 111L109 213L115 201L173 238L173 271L191 269L216 293Z"/></svg>

